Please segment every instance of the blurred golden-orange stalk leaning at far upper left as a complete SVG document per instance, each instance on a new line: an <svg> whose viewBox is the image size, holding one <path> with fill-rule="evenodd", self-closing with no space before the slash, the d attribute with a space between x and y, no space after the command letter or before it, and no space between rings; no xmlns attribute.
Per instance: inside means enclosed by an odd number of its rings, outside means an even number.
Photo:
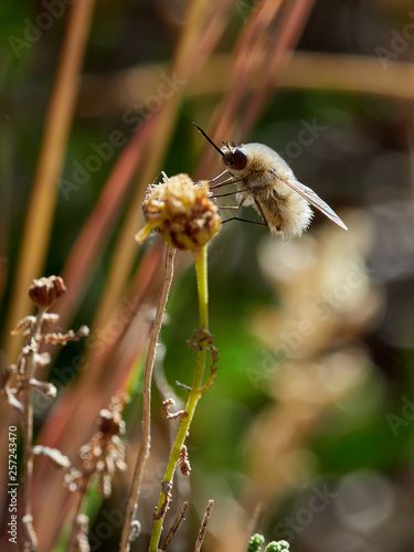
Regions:
<svg viewBox="0 0 414 552"><path fill-rule="evenodd" d="M43 273L55 212L56 181L65 156L93 7L94 0L83 0L71 7L25 219L18 269L13 277L6 328L12 328L17 320L31 311L25 290L32 279L41 277ZM10 359L17 357L20 347L21 340L10 339L7 333L4 349Z"/></svg>

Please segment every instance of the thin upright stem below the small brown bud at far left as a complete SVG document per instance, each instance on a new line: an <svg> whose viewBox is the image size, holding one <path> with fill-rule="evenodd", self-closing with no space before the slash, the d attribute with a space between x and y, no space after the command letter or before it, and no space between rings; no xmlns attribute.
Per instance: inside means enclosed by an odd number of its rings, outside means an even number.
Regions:
<svg viewBox="0 0 414 552"><path fill-rule="evenodd" d="M32 338L38 338L41 335L43 315L45 309L40 309L36 315L35 322L30 332L28 343L30 344ZM36 343L36 341L35 341ZM36 343L38 347L38 343ZM24 369L24 389L23 389L23 412L22 412L22 440L23 440L23 457L22 457L22 480L21 480L21 496L22 496L22 540L23 551L33 551L36 546L36 537L32 529L32 478L33 478L33 405L31 401L32 388L30 380L34 378L35 372L35 353L33 351L28 358L28 364Z"/></svg>

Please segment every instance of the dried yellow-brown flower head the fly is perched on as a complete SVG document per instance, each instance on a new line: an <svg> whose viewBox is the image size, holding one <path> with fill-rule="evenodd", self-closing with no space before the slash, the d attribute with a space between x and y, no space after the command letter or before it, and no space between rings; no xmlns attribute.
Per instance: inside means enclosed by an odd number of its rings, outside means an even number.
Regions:
<svg viewBox="0 0 414 552"><path fill-rule="evenodd" d="M138 243L156 230L171 247L197 250L221 227L219 209L209 197L208 182L194 184L188 174L151 184L142 211L147 224L135 236Z"/></svg>

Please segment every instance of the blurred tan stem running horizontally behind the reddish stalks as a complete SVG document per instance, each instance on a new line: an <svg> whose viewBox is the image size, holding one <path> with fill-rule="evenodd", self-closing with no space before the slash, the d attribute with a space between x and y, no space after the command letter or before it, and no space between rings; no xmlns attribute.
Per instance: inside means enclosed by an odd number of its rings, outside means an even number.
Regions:
<svg viewBox="0 0 414 552"><path fill-rule="evenodd" d="M368 96L384 96L392 99L414 98L414 66L408 62L389 60L386 71L378 57L364 55L326 54L320 52L297 51L285 53L282 74L273 75L272 88L298 91L331 91ZM289 62L290 60L290 62ZM185 91L188 98L204 98L221 95L229 89L229 75L233 56L215 54L205 64L197 79L189 83ZM168 70L167 64L157 63L145 67L123 71L118 76L85 79L82 91L82 117L96 117L91 109L96 95L105 105L98 115L106 115L128 109L134 102L145 102L157 86L157 78ZM248 89L257 88L261 83L252 79ZM123 94L118 91L121 89Z"/></svg>

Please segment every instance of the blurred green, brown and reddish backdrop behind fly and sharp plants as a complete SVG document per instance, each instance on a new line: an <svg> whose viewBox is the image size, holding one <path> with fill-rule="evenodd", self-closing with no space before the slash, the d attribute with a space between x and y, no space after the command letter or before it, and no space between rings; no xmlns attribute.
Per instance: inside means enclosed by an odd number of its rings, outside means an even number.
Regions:
<svg viewBox="0 0 414 552"><path fill-rule="evenodd" d="M163 270L159 240L134 241L145 189L162 170L194 179L222 170L195 120L216 142L274 148L349 232L316 213L300 240L230 222L211 244L220 368L188 442L190 480L174 486L166 524L184 498L190 508L170 550L193 550L212 498L205 552L243 552L255 520L293 552L411 552L412 2L43 0L3 2L0 18L2 364L15 362L10 330L31 314L31 279L59 274L68 287L61 326L88 323L92 336L56 351L43 374L59 396L35 399L38 442L76 464L99 410L119 390L131 394L128 470L109 500L92 493L92 550L117 550L139 446L142 358ZM257 220L251 208L243 216ZM187 254L167 310L137 551L177 431L160 403L185 400L176 381L189 384L194 367ZM3 400L1 415L6 450L15 417ZM6 474L6 455L1 463ZM36 463L33 492L41 550L64 550L73 502L62 474ZM3 540L7 520L4 510Z"/></svg>

